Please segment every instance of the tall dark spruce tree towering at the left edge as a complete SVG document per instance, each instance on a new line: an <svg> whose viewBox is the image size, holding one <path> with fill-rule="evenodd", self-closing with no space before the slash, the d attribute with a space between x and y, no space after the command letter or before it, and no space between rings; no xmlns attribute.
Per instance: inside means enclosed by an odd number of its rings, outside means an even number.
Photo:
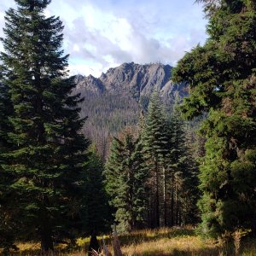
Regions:
<svg viewBox="0 0 256 256"><path fill-rule="evenodd" d="M80 179L87 141L79 133L79 95L67 78L67 55L61 50L61 20L45 17L49 0L15 0L5 15L2 84L9 88L14 114L8 140L12 150L1 163L12 177L13 200L1 207L17 214L23 238L41 240L53 250L53 236L67 233L79 212ZM69 229L72 230L72 229ZM17 236L19 233L17 233ZM16 236L16 237L17 237Z"/></svg>

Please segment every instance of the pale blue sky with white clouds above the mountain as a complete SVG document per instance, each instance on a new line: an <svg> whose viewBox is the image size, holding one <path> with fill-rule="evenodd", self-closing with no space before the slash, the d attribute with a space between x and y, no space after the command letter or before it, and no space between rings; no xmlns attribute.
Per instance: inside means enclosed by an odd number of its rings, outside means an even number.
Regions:
<svg viewBox="0 0 256 256"><path fill-rule="evenodd" d="M1 0L0 37L10 7L14 0ZM52 0L45 15L60 16L70 73L85 76L131 61L174 67L207 38L207 20L195 0Z"/></svg>

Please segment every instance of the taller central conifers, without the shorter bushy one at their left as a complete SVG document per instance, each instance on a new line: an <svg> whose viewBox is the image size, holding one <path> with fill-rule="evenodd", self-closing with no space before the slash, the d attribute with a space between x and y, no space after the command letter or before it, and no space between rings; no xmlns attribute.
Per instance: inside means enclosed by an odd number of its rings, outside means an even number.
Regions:
<svg viewBox="0 0 256 256"><path fill-rule="evenodd" d="M148 227L196 222L197 166L188 145L186 127L172 109L167 118L159 92L151 97L141 119L148 166Z"/></svg>

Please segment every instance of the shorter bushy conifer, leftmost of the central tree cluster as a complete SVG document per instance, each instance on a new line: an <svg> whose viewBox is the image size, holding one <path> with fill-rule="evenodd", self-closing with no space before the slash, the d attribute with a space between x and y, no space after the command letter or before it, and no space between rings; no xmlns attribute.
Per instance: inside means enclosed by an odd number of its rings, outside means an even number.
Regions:
<svg viewBox="0 0 256 256"><path fill-rule="evenodd" d="M106 189L118 230L142 228L145 221L145 183L148 169L143 159L143 145L132 131L113 137L106 164Z"/></svg>

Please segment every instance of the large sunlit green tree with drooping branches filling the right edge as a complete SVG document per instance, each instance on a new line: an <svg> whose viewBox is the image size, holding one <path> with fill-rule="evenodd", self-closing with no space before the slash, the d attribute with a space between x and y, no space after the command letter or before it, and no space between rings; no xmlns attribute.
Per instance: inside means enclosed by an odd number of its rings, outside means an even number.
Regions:
<svg viewBox="0 0 256 256"><path fill-rule="evenodd" d="M199 1L209 18L209 38L178 62L174 80L186 81L188 118L208 113L201 160L201 230L219 236L255 231L256 4L253 0Z"/></svg>

